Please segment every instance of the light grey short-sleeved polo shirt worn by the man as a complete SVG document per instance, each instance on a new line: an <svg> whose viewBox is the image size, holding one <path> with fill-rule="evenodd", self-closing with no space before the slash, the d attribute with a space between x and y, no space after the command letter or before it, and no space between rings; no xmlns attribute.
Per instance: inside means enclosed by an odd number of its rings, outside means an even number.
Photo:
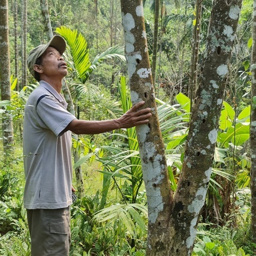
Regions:
<svg viewBox="0 0 256 256"><path fill-rule="evenodd" d="M29 95L23 127L26 209L58 209L72 203L71 132L62 131L74 119L62 95L48 83L40 81Z"/></svg>

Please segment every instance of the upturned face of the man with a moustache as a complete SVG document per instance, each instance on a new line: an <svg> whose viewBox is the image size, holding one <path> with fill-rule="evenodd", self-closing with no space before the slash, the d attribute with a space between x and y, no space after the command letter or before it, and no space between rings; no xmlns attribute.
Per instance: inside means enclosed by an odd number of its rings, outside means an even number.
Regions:
<svg viewBox="0 0 256 256"><path fill-rule="evenodd" d="M58 50L49 46L42 55L41 76L65 77L68 73L67 64Z"/></svg>

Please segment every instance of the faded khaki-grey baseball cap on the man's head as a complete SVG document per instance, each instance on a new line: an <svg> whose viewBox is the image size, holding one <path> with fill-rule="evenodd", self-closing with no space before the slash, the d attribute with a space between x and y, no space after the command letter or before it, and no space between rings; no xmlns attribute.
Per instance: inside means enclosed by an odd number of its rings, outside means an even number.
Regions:
<svg viewBox="0 0 256 256"><path fill-rule="evenodd" d="M28 69L32 76L35 77L34 65L37 61L37 58L43 55L43 53L49 46L52 46L53 48L58 50L59 53L62 55L62 53L64 53L66 49L66 42L64 38L60 35L55 35L47 44L40 44L40 46L37 46L34 49L32 49L28 55Z"/></svg>

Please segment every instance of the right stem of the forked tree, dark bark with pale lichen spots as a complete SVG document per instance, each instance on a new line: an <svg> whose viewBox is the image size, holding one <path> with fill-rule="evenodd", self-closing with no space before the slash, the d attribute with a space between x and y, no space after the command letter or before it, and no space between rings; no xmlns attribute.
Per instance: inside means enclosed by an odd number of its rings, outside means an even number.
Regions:
<svg viewBox="0 0 256 256"><path fill-rule="evenodd" d="M214 0L207 46L192 109L185 158L174 195L168 255L191 255L198 217L212 171L228 73L242 0Z"/></svg>

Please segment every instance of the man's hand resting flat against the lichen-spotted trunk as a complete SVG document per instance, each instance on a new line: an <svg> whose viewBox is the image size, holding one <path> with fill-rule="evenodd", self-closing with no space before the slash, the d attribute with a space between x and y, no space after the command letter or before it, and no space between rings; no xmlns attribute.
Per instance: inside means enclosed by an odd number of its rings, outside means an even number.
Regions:
<svg viewBox="0 0 256 256"><path fill-rule="evenodd" d="M143 125L149 122L149 118L152 116L151 109L140 109L144 105L144 101L140 101L129 109L121 118L117 119L120 128L131 128L135 125Z"/></svg>

